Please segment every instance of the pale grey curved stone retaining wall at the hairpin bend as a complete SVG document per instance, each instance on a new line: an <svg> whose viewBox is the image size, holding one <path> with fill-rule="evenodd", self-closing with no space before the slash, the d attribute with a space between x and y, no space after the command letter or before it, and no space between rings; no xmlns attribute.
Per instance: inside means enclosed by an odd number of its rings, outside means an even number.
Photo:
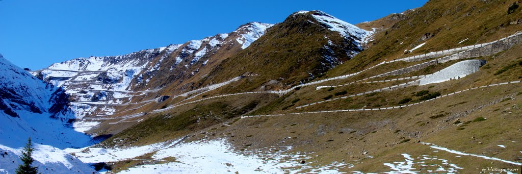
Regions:
<svg viewBox="0 0 522 174"><path fill-rule="evenodd" d="M428 77L419 79L420 85L445 82L450 79L458 79L479 71L479 67L486 63L485 60L467 60L457 62L451 66L433 73Z"/></svg>

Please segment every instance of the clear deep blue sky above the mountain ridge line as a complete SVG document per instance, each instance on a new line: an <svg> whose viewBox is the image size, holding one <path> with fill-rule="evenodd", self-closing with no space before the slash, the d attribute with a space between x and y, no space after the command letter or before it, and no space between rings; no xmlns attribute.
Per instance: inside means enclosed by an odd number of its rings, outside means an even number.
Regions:
<svg viewBox="0 0 522 174"><path fill-rule="evenodd" d="M3 0L0 54L40 69L75 57L120 55L228 33L251 21L276 24L322 10L351 24L422 6L403 1Z"/></svg>

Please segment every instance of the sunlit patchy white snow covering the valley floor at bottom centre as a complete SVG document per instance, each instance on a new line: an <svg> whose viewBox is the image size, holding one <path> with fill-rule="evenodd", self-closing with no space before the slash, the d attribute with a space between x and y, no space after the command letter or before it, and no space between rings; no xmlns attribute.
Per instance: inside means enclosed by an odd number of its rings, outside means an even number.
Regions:
<svg viewBox="0 0 522 174"><path fill-rule="evenodd" d="M234 151L227 140L217 139L191 143L177 140L123 149L69 148L65 151L84 163L147 161L146 165L119 173L339 173L339 169L353 167L343 162L317 165L310 154L290 153L291 149L284 146Z"/></svg>

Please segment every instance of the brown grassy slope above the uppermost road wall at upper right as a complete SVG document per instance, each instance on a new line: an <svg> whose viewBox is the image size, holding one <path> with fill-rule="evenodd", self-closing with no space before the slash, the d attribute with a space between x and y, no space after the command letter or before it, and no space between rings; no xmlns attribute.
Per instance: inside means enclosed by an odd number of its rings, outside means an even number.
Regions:
<svg viewBox="0 0 522 174"><path fill-rule="evenodd" d="M520 25L509 25L522 12L507 14L515 1L430 1L390 27L374 36L372 47L355 56L350 63L337 66L324 77L334 77L360 71L384 60L440 51L476 43L484 43L509 36L521 30ZM434 37L419 41L425 33ZM458 43L462 40L468 40ZM402 42L402 44L400 44ZM417 45L426 44L405 54Z"/></svg>

